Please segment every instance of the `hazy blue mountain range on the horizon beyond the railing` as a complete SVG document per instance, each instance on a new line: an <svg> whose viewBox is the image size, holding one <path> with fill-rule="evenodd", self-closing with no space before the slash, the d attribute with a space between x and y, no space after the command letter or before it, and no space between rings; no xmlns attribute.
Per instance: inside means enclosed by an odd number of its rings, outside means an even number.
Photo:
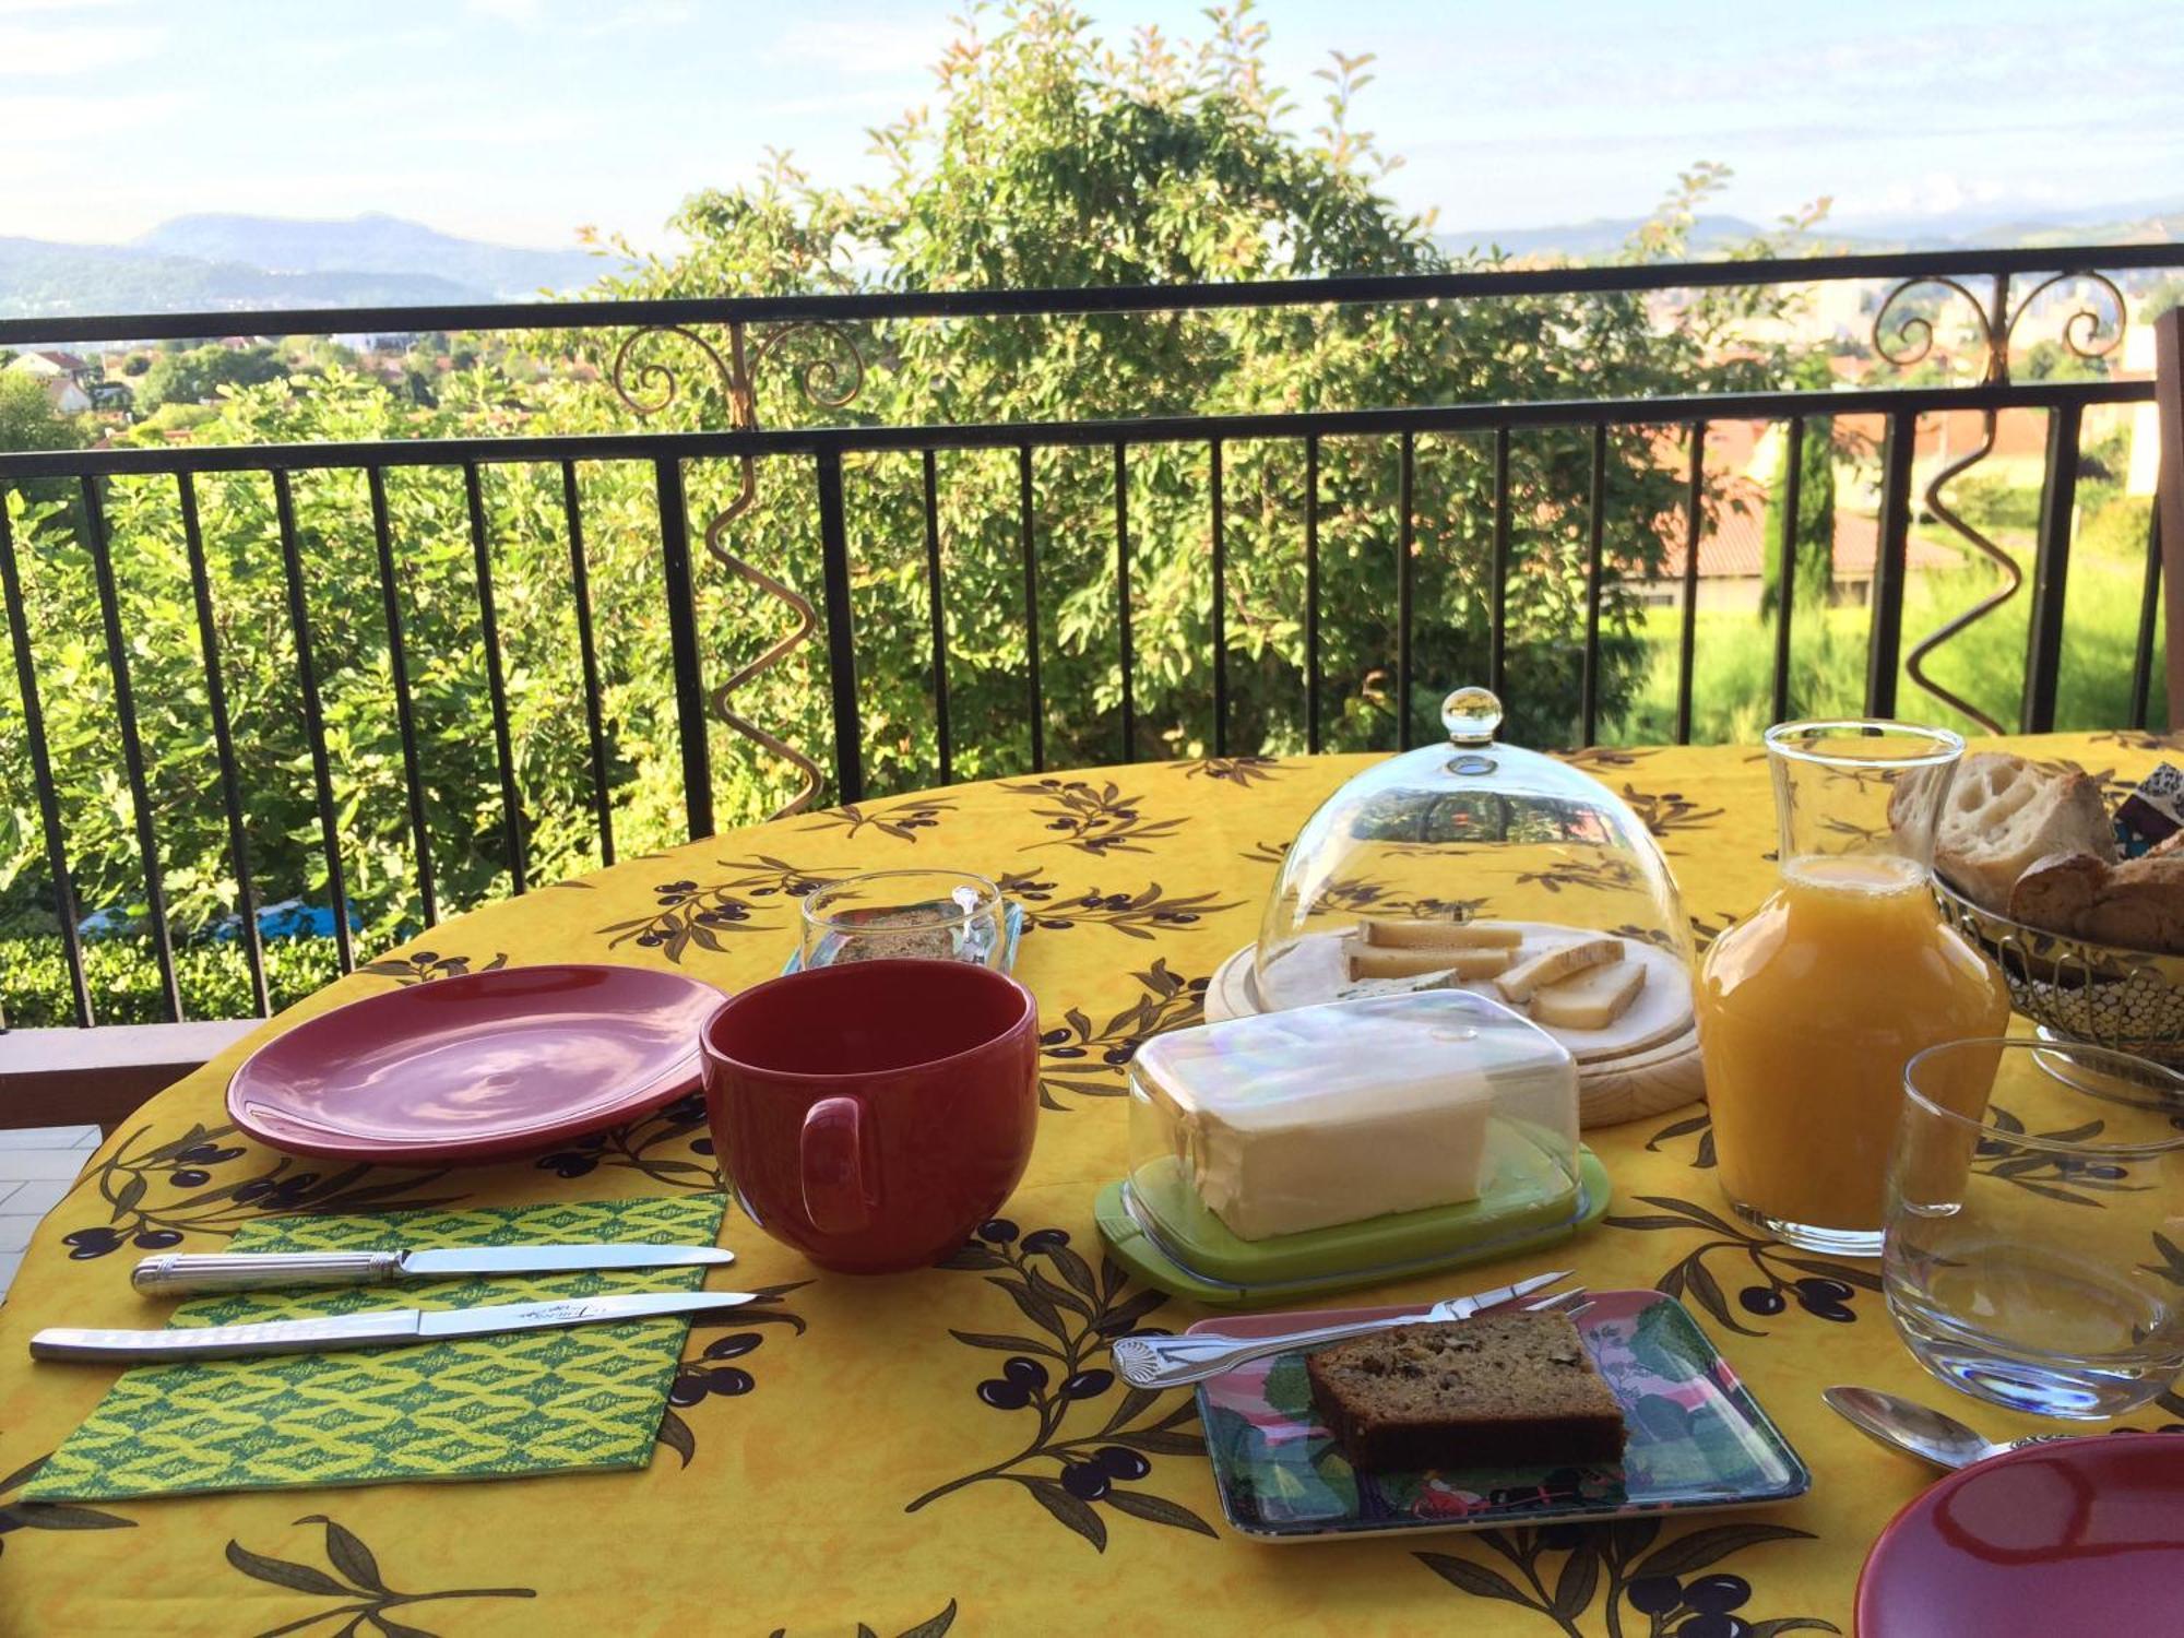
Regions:
<svg viewBox="0 0 2184 1638"><path fill-rule="evenodd" d="M1555 227L1444 232L1450 251L1588 260L1623 249L1642 218ZM1699 216L1697 253L1749 240L1743 216ZM2011 245L2184 242L2184 194L1998 218L1992 207L1828 221L1806 236L1826 249L1961 249ZM129 245L63 245L0 236L0 319L92 312L249 312L524 301L574 290L612 271L590 251L520 249L441 234L400 216L349 221L177 216Z"/></svg>

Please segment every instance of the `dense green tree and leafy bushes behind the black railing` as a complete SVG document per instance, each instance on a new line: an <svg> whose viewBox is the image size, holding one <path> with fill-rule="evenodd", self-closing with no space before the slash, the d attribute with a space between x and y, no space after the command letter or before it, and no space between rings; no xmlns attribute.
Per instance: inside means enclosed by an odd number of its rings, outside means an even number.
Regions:
<svg viewBox="0 0 2184 1638"><path fill-rule="evenodd" d="M939 63L930 114L876 133L885 177L823 186L786 159L760 181L692 197L673 227L686 249L631 258L603 297L771 295L804 290L946 290L1066 284L1195 284L1330 273L1435 273L1459 266L1428 221L1380 192L1393 164L1352 122L1365 63L1326 74L1317 127L1265 79L1265 26L1249 11L1214 13L1203 46L1144 31L1109 48L1066 4L1022 4L996 33L965 35ZM1721 181L1682 177L1631 258L1684 251L1679 223ZM1754 253L1769 249L1754 247ZM1697 297L1673 314L1640 297L1420 301L1199 314L889 321L854 330L753 330L705 341L749 363L764 424L1077 422L1153 413L1260 413L1470 400L1618 397L1762 387L1780 358L1721 341L1765 295ZM214 393L190 371L238 367L225 349L162 352L140 402L210 400L197 441L356 441L627 430L614 391L625 334L539 334L522 343L422 339L411 380L387 382L341 358L290 373L264 358L256 382ZM271 349L266 349L271 354ZM636 343L620 384L657 428L732 426L745 404L705 349L679 334ZM245 354L242 358L249 358ZM441 360L448 360L441 365ZM1721 363L1728 360L1728 363ZM258 367L258 365L247 365ZM177 387L177 382L188 382ZM149 432L146 437L157 437ZM1590 439L1511 437L1511 574L1507 587L1511 719L1535 743L1577 736L1577 684L1590 524ZM1297 441L1225 443L1225 660L1232 751L1304 747L1304 450ZM1214 452L1131 443L1125 452L1136 738L1123 745L1116 459L1112 448L1037 450L1031 461L1040 629L1026 631L1020 470L1013 450L946 452L935 461L946 579L946 666L959 778L1026 767L1024 690L1031 642L1042 657L1046 756L1103 762L1212 747ZM655 480L644 463L581 463L579 500L598 633L607 782L622 854L681 839L684 797L660 570ZM430 863L441 911L509 891L478 572L463 474L387 472L397 559L395 609L408 644L419 725ZM719 555L819 601L815 474L802 456L686 463L695 537ZM1647 435L1607 441L1607 570L1603 710L1638 686L1642 640L1629 581L1682 529L1682 476L1671 446ZM417 926L415 850L371 509L358 472L293 480L297 557L334 769L334 821L347 891L367 946ZM240 786L251 817L260 902L304 893L325 902L319 815L286 572L264 474L197 480L214 638L234 716ZM917 456L845 463L858 712L867 784L911 788L937 778L930 677L924 472ZM72 865L85 906L140 904L131 804L114 743L90 566L55 507L9 500L63 778ZM568 537L557 465L480 470L480 505L505 646L505 679L533 882L598 856L583 684L574 644ZM1328 439L1319 454L1321 705L1337 749L1409 743L1435 721L1439 695L1487 673L1487 439L1420 437L1411 507L1417 690L1396 699L1398 563L1404 546L1400 446ZM157 804L166 887L183 930L236 906L197 616L173 480L107 487L116 572L144 745ZM699 622L708 686L769 649L791 614L721 557L705 561ZM817 638L753 675L727 708L804 751L832 760L826 646ZM15 738L9 738L9 736ZM719 823L773 812L802 780L771 749L714 725ZM44 860L31 821L20 725L0 716L0 906L44 904ZM826 799L821 788L819 799ZM144 978L142 987L149 989ZM13 998L11 998L13 1007ZM17 1013L20 1016L20 1009Z"/></svg>

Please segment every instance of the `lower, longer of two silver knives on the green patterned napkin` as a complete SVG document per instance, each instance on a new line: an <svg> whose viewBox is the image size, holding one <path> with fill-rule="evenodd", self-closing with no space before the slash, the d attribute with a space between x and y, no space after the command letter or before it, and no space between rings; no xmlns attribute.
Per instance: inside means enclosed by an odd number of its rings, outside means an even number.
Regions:
<svg viewBox="0 0 2184 1638"><path fill-rule="evenodd" d="M400 1348L500 1330L596 1326L653 1319L756 1302L751 1291L633 1291L563 1302L496 1302L487 1308L380 1308L328 1319L269 1319L256 1326L183 1326L175 1330L79 1330L57 1326L31 1337L33 1358L232 1358L236 1354L323 1354L334 1348Z"/></svg>

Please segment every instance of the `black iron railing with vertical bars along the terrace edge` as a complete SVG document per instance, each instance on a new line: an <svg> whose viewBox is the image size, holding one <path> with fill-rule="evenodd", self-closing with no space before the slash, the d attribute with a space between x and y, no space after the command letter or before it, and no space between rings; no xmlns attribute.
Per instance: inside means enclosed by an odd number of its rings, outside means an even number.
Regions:
<svg viewBox="0 0 2184 1638"><path fill-rule="evenodd" d="M2009 332L2025 312L2031 295L2049 290L2057 282L2081 290L2105 290L2114 297L2114 314L2105 341L2099 314L2088 317L2084 328L2064 330L2073 349L2084 354L2105 352L2114 343L2114 328L2125 321L2125 301L2105 273L2127 275L2149 269L2184 266L2184 247L2099 247L2084 251L1968 251L1937 256L1850 256L1797 262L1717 262L1677 266L1603 266L1603 269L1553 269L1553 271L1481 271L1452 273L1439 277L1358 277L1358 280L1310 280L1293 284L1236 284L1236 286L1190 286L1190 288L1123 288L1123 290L1000 290L1000 293L874 293L832 297L762 297L762 299L716 299L716 301L577 301L542 306L463 306L463 308L391 308L391 310L299 310L275 314L138 314L100 319L39 319L0 323L0 347L22 347L28 343L66 345L90 341L153 341L221 334L238 323L251 323L280 334L310 332L384 332L384 330L629 330L655 334L662 330L688 336L705 345L723 380L729 384L729 400L745 408L736 426L721 430L631 430L585 437L537 437L515 432L489 439L400 439L371 443L258 443L258 446L205 446L179 443L168 448L105 448L66 452L0 452L0 494L20 485L50 485L72 480L74 500L81 507L85 546L96 570L96 596L103 622L105 662L111 670L111 692L116 708L116 745L122 762L122 778L133 808L135 845L142 858L144 887L144 930L151 939L151 959L159 970L159 994L166 1016L183 1013L183 998L175 978L173 930L166 915L166 889L162 882L162 852L157 834L159 804L151 791L146 756L140 740L138 701L131 695L129 677L129 633L122 629L122 603L116 592L111 561L114 542L103 515L103 485L118 478L168 478L177 487L181 524L188 544L186 572L188 594L197 612L201 644L201 675L207 695L207 714L214 734L221 804L225 810L225 834L229 869L238 887L240 943L247 952L251 989L256 1005L264 1011L271 1005L264 959L256 919L249 913L253 902L253 793L240 786L236 751L229 727L229 703L223 692L223 666L216 636L216 596L205 566L201 537L197 478L205 474L266 474L275 496L275 531L280 544L280 574L284 577L286 614L295 653L297 692L301 699L304 736L310 747L308 780L312 808L317 815L317 852L325 871L325 891L334 904L332 937L339 946L339 965L349 970L356 961L345 904L349 891L343 821L336 810L334 769L328 751L328 725L319 692L319 675L312 651L312 616L306 585L306 566L299 548L299 526L295 507L295 476L304 472L360 472L369 496L369 533L373 544L373 566L378 574L380 603L387 620L387 644L391 657L391 703L400 729L402 786L406 802L406 823L415 854L415 906L417 919L430 926L450 909L443 902L441 882L435 880L432 839L426 823L426 753L428 734L419 723L417 703L411 692L413 655L404 646L404 609L397 596L400 555L389 529L387 480L391 472L406 467L439 467L461 474L463 509L470 535L472 563L476 572L476 616L483 638L485 679L489 695L494 767L500 804L500 852L507 882L522 893L531 887L531 860L526 858L526 815L524 793L518 778L518 749L511 736L509 679L502 662L502 640L498 629L494 553L487 529L487 509L480 498L480 472L496 465L539 465L557 467L561 480L561 513L568 542L570 594L574 601L574 625L581 660L585 716L585 745L590 762L590 808L596 819L596 854L603 863L616 856L614 802L609 795L609 729L601 705L601 660L594 631L592 598L585 555L585 518L579 498L579 463L642 463L653 474L660 529L660 572L666 598L664 616L668 631L668 653L673 668L673 716L681 760L681 804L684 821L692 839L714 830L714 764L708 729L714 721L727 721L745 738L767 745L784 760L806 769L806 793L797 804L817 791L826 791L836 802L854 804L867 797L867 758L863 740L863 712L858 695L858 629L856 603L852 596L856 548L845 507L845 461L878 454L915 456L922 478L924 518L924 577L928 596L930 629L930 699L937 729L937 773L946 784L957 773L957 760L965 747L965 723L950 719L948 692L948 618L946 577L939 529L939 470L937 456L952 450L1000 450L1016 456L1016 535L1022 553L1022 618L1029 633L1026 664L1022 677L1024 712L1029 721L1029 767L1044 771L1048 762L1046 714L1048 701L1042 692L1040 666L1040 542L1042 520L1035 505L1033 470L1042 454L1057 450L1105 450L1114 467L1114 609L1118 618L1120 655L1120 701L1116 721L1116 760L1136 760L1142 751L1140 712L1133 692L1133 596L1131 596L1131 515L1129 474L1133 452L1153 446L1197 448L1208 459L1206 494L1206 539L1210 574L1210 625L1212 642L1208 657L1210 673L1210 745L1214 756L1227 756L1232 747L1232 664L1236 657L1227 642L1227 577L1230 524L1225 515L1225 450L1241 443L1289 443L1302 448L1304 496L1302 496L1302 542L1304 542L1304 738L1310 749L1326 743L1326 679L1321 675L1321 607L1330 566L1321 563L1321 459L1328 441L1334 439L1382 439L1393 446L1400 463L1398 483L1398 579L1393 612L1393 699L1396 743L1415 743L1428 732L1428 723L1417 721L1415 710L1420 681L1452 681L1417 677L1417 655L1413 649L1413 627L1417 622L1417 587L1413 566L1413 480L1417 472L1420 437L1476 437L1489 448L1492 459L1492 526L1487 566L1487 609L1489 646L1487 681L1503 690L1509 684L1507 598L1511 590L1511 529L1516 496L1511 487L1511 437L1542 430L1579 435L1590 450L1590 483L1579 507L1586 522L1583 537L1583 618L1572 633L1577 651L1577 732L1590 743L1601 727L1601 675L1603 675L1603 590L1612 579L1612 563L1605 555L1603 526L1607 515L1605 489L1610 480L1610 439L1642 435L1660 439L1682 435L1688 450L1684 467L1684 515L1682 529L1682 631L1677 644L1677 738L1693 732L1693 677L1697 646L1697 583L1699 583L1699 539L1704 529L1704 496L1708 491L1706 432L1710 424L1728 422L1773 422L1787 430L1787 456L1782 465L1780 518L1782 529L1769 542L1776 561L1776 625L1771 657L1771 708L1776 716L1791 714L1793 705L1793 629L1800 618L1795 607L1795 518L1797 518L1797 452L1808 422L1815 417L1878 417L1880 435L1880 507L1878 507L1878 559L1872 587L1872 622L1867 636L1865 664L1865 710L1872 714L1894 714L1898 710L1898 670L1904 662L1902 596L1907 544L1913 526L1913 511L1920 505L1913 496L1913 452L1918 422L1933 413L1972 413L1983 419L1985 443L1968 459L1952 461L1946 472L1926 485L1926 507L1944 522L1959 526L1968 542L2007 568L2011 583L2003 596L2016 590L2018 574L2014 559L1992 548L1979 531L1963 526L1946 505L1939 505L1944 480L1963 472L1972 461L1992 450L1996 417L2007 411L2040 411L2049 417L2046 467L2042 480L2038 546L2031 574L2031 638L2027 644L2022 710L2018 727L2027 732L2049 729L2055 723L2057 675L2062 662L2064 596L2070 566L2070 522L2077 483L2077 452L2084 413L2101 404L2151 402L2149 380L2011 380L2007 369ZM2031 277L2038 275L2038 277ZM946 426L793 426L758 428L747 415L749 369L745 343L756 336L758 325L773 325L769 339L758 341L756 354L788 330L826 328L850 321L906 321L906 319L994 319L994 317L1055 317L1055 314L1114 314L1114 312L1188 312L1212 308L1293 308L1326 304L1409 304L1409 301L1487 301L1496 297L1540 297L1540 295L1597 295L1597 293L1677 293L1697 288L1732 288L1760 284L1806 284L1874 280L1894 286L1894 295L1918 284L1937 284L1959 297L1970 299L1979 330L1985 341L1987 369L1974 384L1952 387L1889 387L1861 391L1767 391L1767 393L1706 393L1664 397L1618 397L1583 402L1492 402L1492 404L1396 404L1372 408L1337 411L1286 411L1249 415L1147 415L1136 419L1085 419L1085 422L965 422ZM1983 295L1974 295L1970 284L1985 284ZM2014 290L2020 288L2027 295ZM1887 317L1889 301L1883 301L1880 319ZM2088 308L2090 312L2090 308ZM1913 319L1911 328L1924 323ZM721 328L732 345L727 354L703 343L692 325ZM1876 336L1880 332L1876 319ZM1931 341L1931 330L1926 334ZM2084 343L2084 345L2081 345ZM1885 352L1885 347L1883 347ZM856 358L863 371L863 358ZM740 387L743 397L736 397ZM826 402L845 402L826 397ZM793 587L771 579L762 566L734 559L721 550L714 535L727 537L727 524L749 500L749 478L743 500L714 515L705 529L705 544L714 555L749 581L780 596L799 609L799 625L782 642L773 644L753 666L736 670L723 686L708 686L708 655L703 651L697 594L701 559L692 550L690 502L686 496L686 470L695 461L743 463L745 474L762 474L764 487L782 496L788 487L802 487L810 498L821 566L821 598L815 609ZM2140 620L2132 653L2132 725L2140 727L2147 716L2147 699L2153 686L2156 655L2156 603L2160 587L2160 542L2149 537L2145 559L2145 581L2140 596ZM177 587L179 592L179 587ZM85 983L83 948L76 933L81 904L70 887L70 836L57 795L52 758L41 710L39 646L50 633L35 631L28 620L17 544L9 533L4 509L0 509L0 596L7 605L7 636L13 649L15 684L20 690L20 721L26 743L31 784L37 797L37 828L44 839L48 867L48 889L52 917L66 948L70 970L72 1011L76 1022L90 1024L98 1016L92 992ZM1972 614L1977 618L1979 612ZM1913 646L1911 673L1928 690L1955 701L1937 684L1920 673L1920 657L1939 638L1961 629L1963 620L1948 631L1928 636ZM740 719L727 703L734 684L756 675L771 657L802 642L808 633L823 631L823 675L828 690L830 743L815 756L812 747L793 745L775 736L767 725ZM1968 708L1968 705L1966 705ZM1970 708L1968 708L1970 710ZM976 732L976 729L974 729ZM7 974L0 972L0 1002L7 1000Z"/></svg>

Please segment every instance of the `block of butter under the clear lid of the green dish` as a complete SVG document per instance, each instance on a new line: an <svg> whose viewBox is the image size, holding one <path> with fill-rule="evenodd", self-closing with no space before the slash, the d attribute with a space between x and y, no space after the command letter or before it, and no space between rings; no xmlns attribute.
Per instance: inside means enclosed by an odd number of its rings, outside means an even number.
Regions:
<svg viewBox="0 0 2184 1638"><path fill-rule="evenodd" d="M1131 1092L1136 1164L1173 1155L1232 1234L1265 1241L1479 1199L1500 1101L1568 1109L1575 1131L1577 1075L1507 1007L1437 989L1158 1035Z"/></svg>

